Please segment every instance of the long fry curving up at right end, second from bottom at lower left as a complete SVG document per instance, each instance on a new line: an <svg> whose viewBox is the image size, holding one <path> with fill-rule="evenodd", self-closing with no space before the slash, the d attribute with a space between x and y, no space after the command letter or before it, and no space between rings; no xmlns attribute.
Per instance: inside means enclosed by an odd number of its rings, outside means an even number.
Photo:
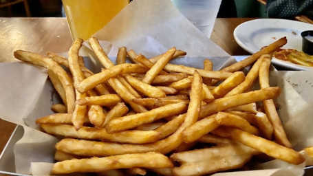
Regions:
<svg viewBox="0 0 313 176"><path fill-rule="evenodd" d="M186 114L178 115L185 118ZM82 156L108 156L108 155L122 155L127 153L147 153L151 151L160 152L163 154L170 153L177 146L180 146L184 141L182 138L182 131L190 124L183 123L175 133L166 137L164 140L153 142L151 144L117 144L109 142L96 142L89 140L74 140L63 139L56 144L56 149L65 153L72 153L74 155Z"/></svg>

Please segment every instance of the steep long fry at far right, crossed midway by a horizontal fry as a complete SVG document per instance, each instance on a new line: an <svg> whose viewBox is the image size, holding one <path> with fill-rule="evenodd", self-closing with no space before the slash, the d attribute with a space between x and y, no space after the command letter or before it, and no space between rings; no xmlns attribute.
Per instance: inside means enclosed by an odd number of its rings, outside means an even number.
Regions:
<svg viewBox="0 0 313 176"><path fill-rule="evenodd" d="M270 67L270 56L266 56L265 61L263 61L261 68L260 68L260 76L259 76L259 83L261 88L270 87L269 83L269 67ZM263 108L268 116L268 120L272 124L274 129L274 137L275 140L279 144L283 146L292 147L292 144L288 140L287 135L285 134L285 130L283 129L283 124L281 124L281 119L277 113L277 110L274 105L274 101L272 99L263 100Z"/></svg>

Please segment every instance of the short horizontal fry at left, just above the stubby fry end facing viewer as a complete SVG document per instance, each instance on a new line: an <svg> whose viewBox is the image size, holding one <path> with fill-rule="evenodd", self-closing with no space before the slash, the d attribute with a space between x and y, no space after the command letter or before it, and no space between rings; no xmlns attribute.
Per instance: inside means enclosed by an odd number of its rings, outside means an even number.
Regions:
<svg viewBox="0 0 313 176"><path fill-rule="evenodd" d="M89 96L85 98L80 98L76 101L80 105L100 105L100 106L114 106L122 102L122 99L117 94L107 94L103 96Z"/></svg>

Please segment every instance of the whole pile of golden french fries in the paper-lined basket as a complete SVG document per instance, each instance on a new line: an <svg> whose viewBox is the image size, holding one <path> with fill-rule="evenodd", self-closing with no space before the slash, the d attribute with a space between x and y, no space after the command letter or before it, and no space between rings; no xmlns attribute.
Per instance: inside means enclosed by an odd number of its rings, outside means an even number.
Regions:
<svg viewBox="0 0 313 176"><path fill-rule="evenodd" d="M212 70L209 59L204 69L169 63L186 55L175 47L149 59L120 47L115 64L91 37L103 66L94 73L78 55L82 43L74 41L68 58L14 52L47 68L63 100L52 106L56 113L36 120L61 137L52 174L206 175L242 168L263 154L291 164L305 161L277 113L273 99L281 90L269 85L271 53L285 38L220 71ZM248 66L248 74L241 72ZM260 89L254 90L257 81Z"/></svg>

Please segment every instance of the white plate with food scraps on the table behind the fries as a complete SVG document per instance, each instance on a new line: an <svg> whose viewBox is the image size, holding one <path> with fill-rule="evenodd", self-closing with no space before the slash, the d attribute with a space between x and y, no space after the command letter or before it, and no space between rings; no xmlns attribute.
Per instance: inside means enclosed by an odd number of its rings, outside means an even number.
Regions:
<svg viewBox="0 0 313 176"><path fill-rule="evenodd" d="M301 32L305 30L313 30L313 25L285 19L255 19L238 25L234 30L234 38L238 45L251 54L283 36L288 40L283 49L302 51ZM313 67L296 65L277 58L273 58L272 63L294 70L313 69Z"/></svg>

